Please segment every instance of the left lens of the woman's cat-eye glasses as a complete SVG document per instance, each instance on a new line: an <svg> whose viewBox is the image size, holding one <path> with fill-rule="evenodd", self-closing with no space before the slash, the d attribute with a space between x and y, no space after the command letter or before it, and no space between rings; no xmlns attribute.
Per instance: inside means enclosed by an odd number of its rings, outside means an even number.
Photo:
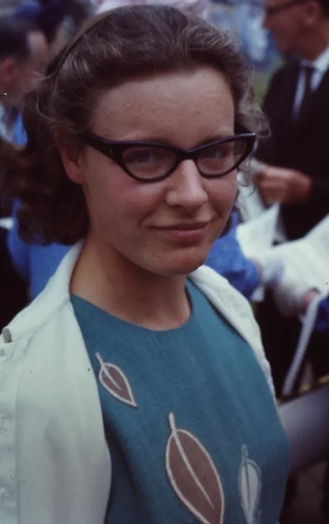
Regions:
<svg viewBox="0 0 329 524"><path fill-rule="evenodd" d="M175 164L175 153L161 147L133 146L125 149L122 161L132 175L151 180L166 175Z"/></svg>

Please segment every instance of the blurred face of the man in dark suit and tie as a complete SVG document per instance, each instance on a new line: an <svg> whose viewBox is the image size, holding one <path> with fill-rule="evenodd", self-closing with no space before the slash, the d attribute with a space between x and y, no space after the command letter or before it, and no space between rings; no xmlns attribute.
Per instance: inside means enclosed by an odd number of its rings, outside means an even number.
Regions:
<svg viewBox="0 0 329 524"><path fill-rule="evenodd" d="M265 0L263 27L268 29L281 53L303 55L308 0Z"/></svg>

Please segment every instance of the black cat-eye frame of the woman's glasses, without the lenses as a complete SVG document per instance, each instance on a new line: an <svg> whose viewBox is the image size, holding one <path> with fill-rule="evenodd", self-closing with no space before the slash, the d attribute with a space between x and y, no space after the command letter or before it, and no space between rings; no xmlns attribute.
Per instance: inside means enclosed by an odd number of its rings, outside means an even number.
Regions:
<svg viewBox="0 0 329 524"><path fill-rule="evenodd" d="M168 146L168 144L166 144L166 143L157 143L157 142L113 141L113 140L107 140L107 139L105 139L103 137L99 137L98 134L94 134L94 133L91 133L91 132L84 133L83 134L83 139L85 140L85 142L89 146L91 146L92 148L94 148L94 149L98 150L99 152L103 153L103 155L105 155L106 157L109 157L112 160L114 160L116 162L116 164L118 164L118 166L120 166L123 169L123 171L125 171L125 173L127 173L127 175L129 175L130 177L134 178L135 180L139 180L139 182L157 182L158 180L163 180L164 178L166 178L169 175L171 175L171 173L173 173L175 171L175 169L181 163L181 161L187 160L187 159L191 159L191 160L195 161L195 164L197 166L197 169L198 169L200 175L202 175L202 177L205 177L205 178L219 178L219 177L222 177L222 176L226 175L227 173L231 173L231 171L233 171L235 168L240 166L240 164L242 164L242 161L244 161L244 159L246 159L247 156L251 153L251 151L254 148L254 143L255 143L255 140L256 140L256 134L255 133L249 132L249 130L243 128L242 126L239 126L238 130L240 132L238 134L232 135L231 137L225 137L225 138L220 139L220 140L215 140L213 142L205 143L204 145L197 146L197 148L193 148L193 149L177 148L175 146ZM216 174L216 175L208 175L208 174L202 173L202 171L200 171L199 166L197 165L197 159L199 157L199 154L202 151L204 151L206 148L209 148L209 147L212 147L212 146L217 146L217 145L222 144L222 143L235 142L235 141L239 141L239 140L243 141L244 143L246 143L246 150L243 153L243 155L241 155L241 157L238 159L238 161L236 161L235 164L233 164L233 166L231 168L229 168L228 170L224 171L223 173L219 173L219 174ZM125 165L125 163L123 161L123 152L125 152L125 150L127 148L131 148L131 147L134 147L134 146L136 146L136 147L138 147L138 146L147 146L147 147L151 147L151 148L152 147L154 147L154 148L159 148L160 147L160 148L163 148L163 149L167 149L167 150L173 151L173 152L175 152L175 155L176 155L176 161L172 165L172 167L168 171L166 171L166 173L164 173L163 175L160 175L160 176L154 177L154 178L141 178L141 177L138 177L138 176L134 175L134 173L132 173L127 168L127 166Z"/></svg>

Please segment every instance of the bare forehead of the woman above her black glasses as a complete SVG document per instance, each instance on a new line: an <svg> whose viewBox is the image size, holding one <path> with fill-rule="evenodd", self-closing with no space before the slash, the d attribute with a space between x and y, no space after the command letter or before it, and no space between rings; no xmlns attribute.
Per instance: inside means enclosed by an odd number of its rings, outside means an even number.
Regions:
<svg viewBox="0 0 329 524"><path fill-rule="evenodd" d="M213 68L200 67L104 90L96 101L91 128L113 140L145 139L144 133L154 134L155 139L155 135L159 138L162 132L181 127L231 132L233 120L233 98L226 78Z"/></svg>

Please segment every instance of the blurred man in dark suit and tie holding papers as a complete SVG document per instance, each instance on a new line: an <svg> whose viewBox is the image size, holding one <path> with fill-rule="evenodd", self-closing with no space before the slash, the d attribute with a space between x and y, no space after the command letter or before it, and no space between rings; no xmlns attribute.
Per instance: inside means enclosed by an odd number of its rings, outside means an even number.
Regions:
<svg viewBox="0 0 329 524"><path fill-rule="evenodd" d="M258 150L265 204L281 202L288 240L329 213L329 0L265 0L264 28L294 55L272 78L263 108L272 136Z"/></svg>

